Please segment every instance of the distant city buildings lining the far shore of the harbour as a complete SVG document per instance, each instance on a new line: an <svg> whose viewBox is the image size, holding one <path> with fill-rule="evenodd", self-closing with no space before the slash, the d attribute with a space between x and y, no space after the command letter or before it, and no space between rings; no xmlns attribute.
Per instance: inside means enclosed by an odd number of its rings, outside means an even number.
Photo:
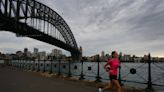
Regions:
<svg viewBox="0 0 164 92"><path fill-rule="evenodd" d="M164 62L164 57L153 57L151 54L145 54L143 56L136 56L126 53L119 53L119 59L121 62L131 62L131 63L145 63L148 62L150 58L152 62ZM108 61L111 57L111 54L105 53L102 51L101 53L92 55L92 56L83 56L81 59L85 60L86 62L97 62L99 56L99 60L101 62ZM29 51L28 48L24 48L24 50L19 50L14 53L1 53L0 52L0 59L8 59L8 60L70 60L70 56L66 56L62 53L59 49L52 49L51 53L47 53L46 51L39 51L38 48L34 48L33 51Z"/></svg>

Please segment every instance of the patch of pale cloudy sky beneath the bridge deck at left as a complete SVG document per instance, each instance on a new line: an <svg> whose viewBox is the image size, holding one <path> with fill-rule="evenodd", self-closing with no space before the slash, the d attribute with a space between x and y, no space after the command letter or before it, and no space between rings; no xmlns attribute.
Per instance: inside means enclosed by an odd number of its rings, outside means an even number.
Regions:
<svg viewBox="0 0 164 92"><path fill-rule="evenodd" d="M15 34L9 32L1 32L0 33L0 50L5 53L14 53L18 50L22 50L24 48L29 48L29 50L33 51L33 48L41 48L41 50L50 51L54 47L48 45L44 42L36 41L34 39L30 39L27 37L16 37Z"/></svg>

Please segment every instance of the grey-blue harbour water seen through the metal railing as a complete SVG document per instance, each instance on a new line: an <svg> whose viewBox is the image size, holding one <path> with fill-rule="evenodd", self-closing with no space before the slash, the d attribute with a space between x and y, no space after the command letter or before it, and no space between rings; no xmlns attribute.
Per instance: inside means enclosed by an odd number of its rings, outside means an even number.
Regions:
<svg viewBox="0 0 164 92"><path fill-rule="evenodd" d="M15 63L14 63L15 62ZM13 64L18 61L13 61ZM20 62L20 61L19 61ZM104 82L109 81L109 74L105 72L104 70L104 64L105 62L101 62L99 64L99 70L100 70L100 77L101 80ZM33 61L21 61L20 66L26 66L28 69L31 69L32 66L37 69L38 68L38 62ZM164 63L152 63L151 64L151 75L152 75L152 83L157 85L164 85ZM40 61L39 62L39 68L40 71L50 71L50 61ZM131 69L135 69L136 73L132 74L130 73ZM83 71L82 71L83 70ZM69 73L69 63L68 62L58 62L54 61L52 62L52 72L58 73L61 72L61 74L68 75ZM95 80L97 77L97 71L98 71L98 63L97 62L84 62L83 67L81 62L71 62L70 63L70 71L71 75L75 78L79 78L81 73L83 73L86 80ZM147 63L122 63L121 64L121 79L123 80L123 84L130 85L133 87L140 87L140 88L146 88L148 82L148 64ZM157 92L163 92L164 86L153 86Z"/></svg>

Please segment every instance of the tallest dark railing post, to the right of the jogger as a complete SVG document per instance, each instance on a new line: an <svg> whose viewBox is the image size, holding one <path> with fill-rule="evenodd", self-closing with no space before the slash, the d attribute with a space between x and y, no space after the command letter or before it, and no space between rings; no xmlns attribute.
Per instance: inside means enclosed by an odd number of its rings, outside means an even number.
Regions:
<svg viewBox="0 0 164 92"><path fill-rule="evenodd" d="M153 92L154 89L152 88L152 76L151 76L151 56L150 53L148 55L148 83L146 92Z"/></svg>

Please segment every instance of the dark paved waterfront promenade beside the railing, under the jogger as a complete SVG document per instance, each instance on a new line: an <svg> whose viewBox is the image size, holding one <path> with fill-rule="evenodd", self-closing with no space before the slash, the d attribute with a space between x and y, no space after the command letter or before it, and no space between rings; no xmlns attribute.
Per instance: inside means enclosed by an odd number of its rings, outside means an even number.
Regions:
<svg viewBox="0 0 164 92"><path fill-rule="evenodd" d="M103 84L54 76L46 72L0 66L0 92L98 92L98 86ZM123 92L143 92L142 89L127 86L123 86L122 90Z"/></svg>

